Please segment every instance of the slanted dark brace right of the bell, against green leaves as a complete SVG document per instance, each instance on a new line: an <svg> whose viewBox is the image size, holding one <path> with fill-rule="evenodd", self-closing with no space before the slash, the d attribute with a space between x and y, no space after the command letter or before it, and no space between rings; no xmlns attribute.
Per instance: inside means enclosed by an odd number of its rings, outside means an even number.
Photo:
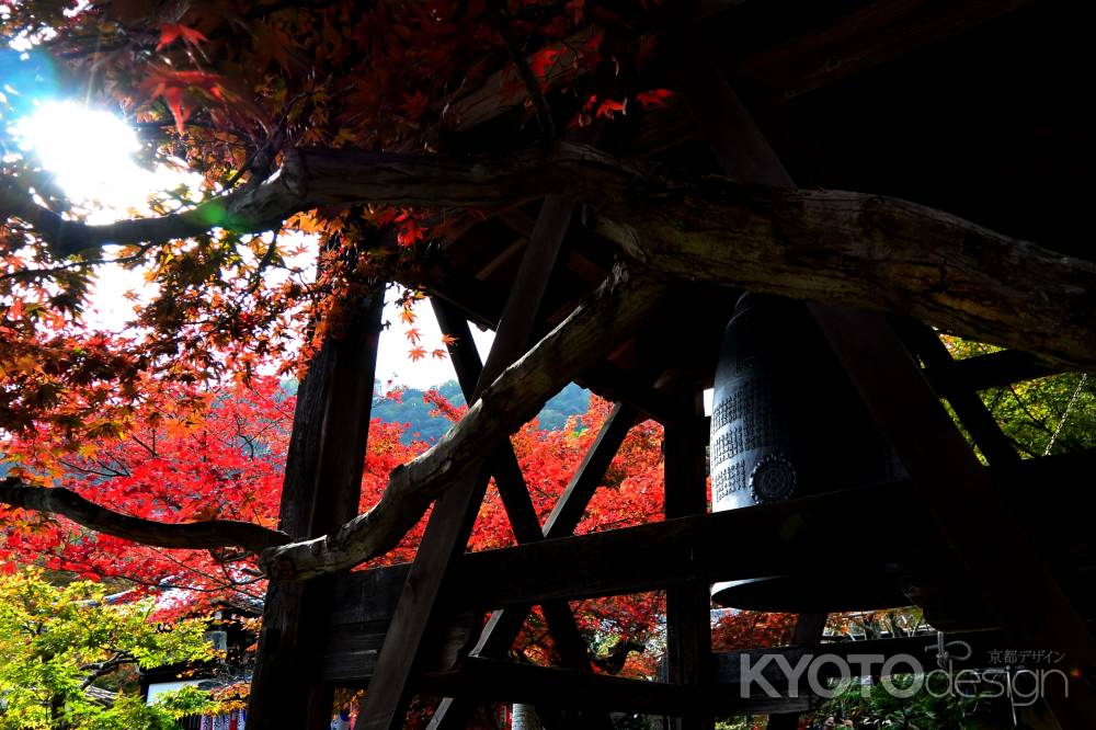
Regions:
<svg viewBox="0 0 1096 730"><path fill-rule="evenodd" d="M966 388L956 373L956 361L933 328L915 320L903 320L899 331L925 364L925 376L941 398L951 404L967 433L982 449L990 464L1014 464L1019 454L1001 430L990 409L974 390Z"/></svg>

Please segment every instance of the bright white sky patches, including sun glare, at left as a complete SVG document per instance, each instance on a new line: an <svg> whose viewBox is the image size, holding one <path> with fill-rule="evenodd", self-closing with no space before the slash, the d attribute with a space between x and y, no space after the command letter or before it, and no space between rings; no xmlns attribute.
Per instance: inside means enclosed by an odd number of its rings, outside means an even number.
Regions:
<svg viewBox="0 0 1096 730"><path fill-rule="evenodd" d="M67 195L87 203L92 210L90 223L150 215L146 204L150 194L181 184L196 190L201 181L201 175L178 163L160 163L156 170L141 168L134 159L134 152L139 149L134 129L109 112L88 109L77 102L42 103L34 113L20 119L12 132L25 150L38 155ZM119 330L133 313L133 305L123 294L140 293L147 284L140 272L116 266L101 266L98 274L88 321L95 327ZM389 292L389 301L397 296L395 289ZM422 303L415 313L419 316L415 327L422 332L423 345L427 350L441 346L441 330L429 304ZM391 326L380 338L377 377L381 383L426 388L455 377L448 360L426 357L412 363L408 358L410 346L399 321L398 307L388 306L386 319ZM471 329L480 355L486 356L493 332Z"/></svg>

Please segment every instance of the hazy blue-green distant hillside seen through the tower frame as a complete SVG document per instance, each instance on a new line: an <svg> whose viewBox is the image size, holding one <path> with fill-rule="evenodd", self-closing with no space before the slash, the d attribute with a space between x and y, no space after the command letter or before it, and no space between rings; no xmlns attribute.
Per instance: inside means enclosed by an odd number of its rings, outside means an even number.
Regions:
<svg viewBox="0 0 1096 730"><path fill-rule="evenodd" d="M465 403L460 393L460 386L456 380L447 380L437 387L438 392L449 399L455 406ZM408 423L410 424L404 441L416 437L424 441L436 441L438 436L446 432L449 422L442 417L430 414L432 407L422 400L422 390L408 388L403 391L402 402L384 399L373 407L373 418L380 419L386 423ZM590 391L580 388L573 383L559 392L558 396L548 401L538 419L544 429L558 430L567 423L567 419L572 415L585 413L590 408Z"/></svg>

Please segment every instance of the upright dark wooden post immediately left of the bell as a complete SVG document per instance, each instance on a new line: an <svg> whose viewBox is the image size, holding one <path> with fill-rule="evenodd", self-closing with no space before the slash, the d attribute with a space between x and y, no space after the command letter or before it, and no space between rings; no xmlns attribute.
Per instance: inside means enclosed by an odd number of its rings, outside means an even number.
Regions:
<svg viewBox="0 0 1096 730"><path fill-rule="evenodd" d="M677 418L665 424L666 518L705 514L708 489L704 400L692 383L676 384ZM711 586L688 583L666 590L666 663L670 681L696 688L710 681ZM703 711L678 717L676 730L712 727Z"/></svg>

